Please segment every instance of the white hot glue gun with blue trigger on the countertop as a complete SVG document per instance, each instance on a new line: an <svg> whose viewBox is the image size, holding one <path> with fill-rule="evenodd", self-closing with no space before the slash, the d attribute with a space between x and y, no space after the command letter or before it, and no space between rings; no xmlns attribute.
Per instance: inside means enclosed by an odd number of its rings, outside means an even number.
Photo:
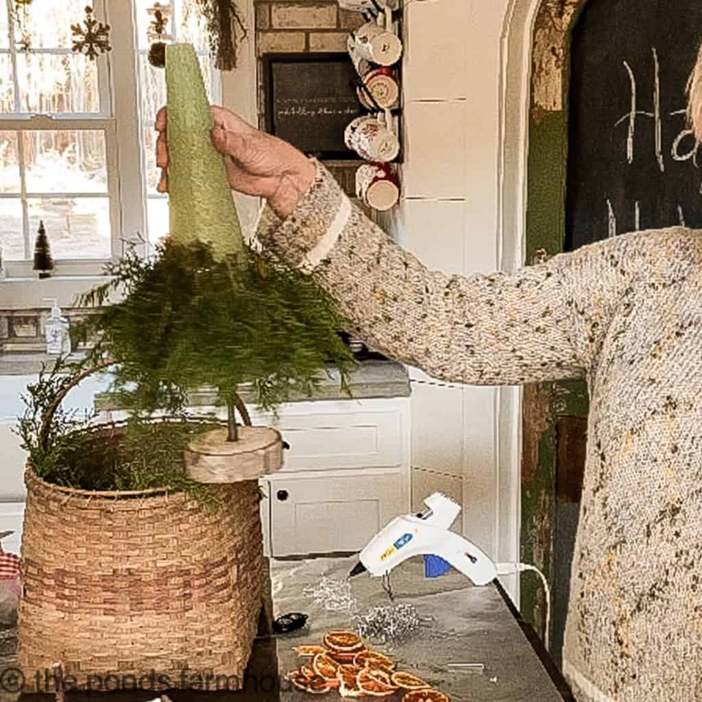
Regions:
<svg viewBox="0 0 702 702"><path fill-rule="evenodd" d="M475 585L491 583L498 574L494 562L475 543L449 531L461 506L440 492L430 495L424 504L423 512L395 517L373 536L351 576L364 571L373 577L385 576L406 559L423 555L428 557L428 576L440 575L452 566Z"/></svg>

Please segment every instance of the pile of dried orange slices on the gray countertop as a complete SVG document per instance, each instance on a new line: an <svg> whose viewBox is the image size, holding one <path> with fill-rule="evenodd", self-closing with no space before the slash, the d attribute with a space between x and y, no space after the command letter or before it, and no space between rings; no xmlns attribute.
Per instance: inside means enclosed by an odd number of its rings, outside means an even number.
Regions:
<svg viewBox="0 0 702 702"><path fill-rule="evenodd" d="M295 687L311 694L336 690L342 697L388 697L402 694L402 702L450 702L449 696L410 673L395 670L395 661L372 651L352 631L330 631L321 646L295 649L306 662L288 673Z"/></svg>

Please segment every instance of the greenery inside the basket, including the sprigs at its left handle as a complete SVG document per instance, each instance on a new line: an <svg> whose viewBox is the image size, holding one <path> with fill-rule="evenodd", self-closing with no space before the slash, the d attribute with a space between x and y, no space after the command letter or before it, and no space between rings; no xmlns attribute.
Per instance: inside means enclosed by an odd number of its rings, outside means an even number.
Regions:
<svg viewBox="0 0 702 702"><path fill-rule="evenodd" d="M25 414L17 433L22 449L29 453L32 470L44 481L63 487L91 491L167 488L216 505L217 491L192 480L183 463L187 443L214 428L214 420L133 416L124 425L96 426L94 413L66 411L58 402L86 370L86 362L67 364L59 358L51 371L44 367L37 382L27 385Z"/></svg>

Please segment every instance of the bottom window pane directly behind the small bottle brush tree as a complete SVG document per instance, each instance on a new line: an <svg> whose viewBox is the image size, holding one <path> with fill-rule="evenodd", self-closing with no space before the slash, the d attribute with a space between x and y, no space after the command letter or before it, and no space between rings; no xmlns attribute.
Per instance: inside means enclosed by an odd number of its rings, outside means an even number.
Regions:
<svg viewBox="0 0 702 702"><path fill-rule="evenodd" d="M54 258L110 258L107 197L29 198L27 204L29 232L37 232L44 220Z"/></svg>

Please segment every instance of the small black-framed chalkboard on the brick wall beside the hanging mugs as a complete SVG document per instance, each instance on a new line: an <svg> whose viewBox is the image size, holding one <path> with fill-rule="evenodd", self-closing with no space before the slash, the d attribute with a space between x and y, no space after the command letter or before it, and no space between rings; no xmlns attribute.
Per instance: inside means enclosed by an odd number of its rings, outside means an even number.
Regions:
<svg viewBox="0 0 702 702"><path fill-rule="evenodd" d="M266 131L320 159L359 158L344 143L364 114L347 53L266 54L263 66Z"/></svg>

